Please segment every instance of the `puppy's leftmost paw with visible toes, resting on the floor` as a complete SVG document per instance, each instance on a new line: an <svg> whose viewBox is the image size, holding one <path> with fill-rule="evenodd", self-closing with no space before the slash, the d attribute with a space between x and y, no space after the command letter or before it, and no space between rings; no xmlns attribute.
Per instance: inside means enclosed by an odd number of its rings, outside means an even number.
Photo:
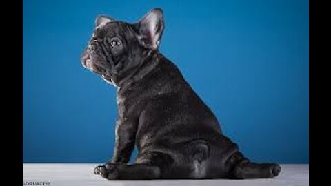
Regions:
<svg viewBox="0 0 331 186"><path fill-rule="evenodd" d="M95 167L94 174L99 174L108 180L117 180L119 178L117 165L114 163L106 163L105 165Z"/></svg>

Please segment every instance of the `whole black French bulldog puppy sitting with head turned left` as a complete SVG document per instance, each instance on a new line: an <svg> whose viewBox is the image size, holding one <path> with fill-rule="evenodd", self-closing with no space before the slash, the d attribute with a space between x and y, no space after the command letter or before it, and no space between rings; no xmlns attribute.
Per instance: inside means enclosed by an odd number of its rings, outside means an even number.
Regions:
<svg viewBox="0 0 331 186"><path fill-rule="evenodd" d="M217 118L158 51L162 10L138 23L97 17L82 65L118 88L113 158L94 169L109 180L272 178L281 167L252 163L221 132ZM139 154L128 165L134 145Z"/></svg>

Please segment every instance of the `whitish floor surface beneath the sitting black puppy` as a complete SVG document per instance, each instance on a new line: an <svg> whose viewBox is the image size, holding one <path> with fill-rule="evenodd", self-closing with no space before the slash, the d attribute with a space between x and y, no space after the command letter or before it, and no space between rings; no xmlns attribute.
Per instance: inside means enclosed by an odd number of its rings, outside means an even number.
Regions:
<svg viewBox="0 0 331 186"><path fill-rule="evenodd" d="M48 185L134 185L134 186L226 186L226 185L309 185L309 165L281 165L279 176L272 179L252 180L150 180L150 181L109 181L93 174L96 164L36 164L23 163L23 185L44 182ZM50 182L50 184L46 183ZM36 183L34 183L36 185Z"/></svg>

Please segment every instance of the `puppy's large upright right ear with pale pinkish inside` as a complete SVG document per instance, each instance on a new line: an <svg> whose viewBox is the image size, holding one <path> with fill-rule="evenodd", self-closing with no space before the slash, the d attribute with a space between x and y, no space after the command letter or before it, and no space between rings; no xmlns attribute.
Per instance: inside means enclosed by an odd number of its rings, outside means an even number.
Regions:
<svg viewBox="0 0 331 186"><path fill-rule="evenodd" d="M143 45L143 47L157 50L164 29L163 12L161 8L150 10L135 26L138 30L137 37L139 43Z"/></svg>

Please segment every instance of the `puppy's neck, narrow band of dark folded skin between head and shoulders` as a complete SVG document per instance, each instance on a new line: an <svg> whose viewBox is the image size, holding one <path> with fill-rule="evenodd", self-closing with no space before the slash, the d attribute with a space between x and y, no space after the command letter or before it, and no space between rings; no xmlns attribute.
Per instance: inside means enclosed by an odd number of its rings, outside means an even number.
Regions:
<svg viewBox="0 0 331 186"><path fill-rule="evenodd" d="M141 63L139 68L132 72L131 75L126 76L118 82L112 82L112 84L119 89L123 89L124 87L128 87L128 85L143 79L144 76L152 72L152 70L157 67L162 57L162 54L160 54L158 50L150 50L150 54L146 57L143 63Z"/></svg>

